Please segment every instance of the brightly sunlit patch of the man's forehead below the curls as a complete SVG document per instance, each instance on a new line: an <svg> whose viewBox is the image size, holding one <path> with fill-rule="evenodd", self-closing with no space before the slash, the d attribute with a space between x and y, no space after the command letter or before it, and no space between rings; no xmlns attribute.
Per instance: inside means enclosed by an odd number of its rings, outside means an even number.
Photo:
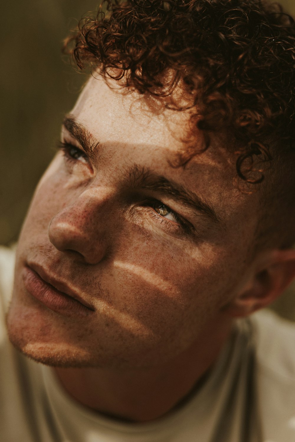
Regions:
<svg viewBox="0 0 295 442"><path fill-rule="evenodd" d="M91 77L73 114L79 115L101 141L124 140L129 144L136 141L137 144L154 146L161 137L161 141L167 139L165 145L171 148L184 130L180 128L187 126L189 115L167 109L161 103L159 100L152 102L137 91L120 88L115 80L109 80L107 84L100 77Z"/></svg>

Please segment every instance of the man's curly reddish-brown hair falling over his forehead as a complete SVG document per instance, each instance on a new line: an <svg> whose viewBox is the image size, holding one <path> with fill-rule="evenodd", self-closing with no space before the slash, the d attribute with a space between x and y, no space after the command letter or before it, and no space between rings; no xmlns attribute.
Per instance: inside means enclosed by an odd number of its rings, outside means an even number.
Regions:
<svg viewBox="0 0 295 442"><path fill-rule="evenodd" d="M105 79L123 80L141 94L171 96L181 80L192 99L190 127L204 134L204 150L210 133L230 134L238 176L249 183L264 178L262 169L253 175L255 162L293 147L295 22L279 4L103 0L66 47L79 69L99 66ZM194 154L188 143L183 165Z"/></svg>

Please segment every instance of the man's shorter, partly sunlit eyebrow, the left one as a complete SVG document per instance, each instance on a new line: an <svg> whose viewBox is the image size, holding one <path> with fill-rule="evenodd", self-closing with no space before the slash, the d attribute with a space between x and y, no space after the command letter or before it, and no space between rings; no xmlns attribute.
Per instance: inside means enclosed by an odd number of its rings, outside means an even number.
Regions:
<svg viewBox="0 0 295 442"><path fill-rule="evenodd" d="M96 149L101 147L100 141L97 141L84 126L77 123L73 115L65 115L62 122L65 129L74 137L82 146L87 155L92 158L96 152Z"/></svg>

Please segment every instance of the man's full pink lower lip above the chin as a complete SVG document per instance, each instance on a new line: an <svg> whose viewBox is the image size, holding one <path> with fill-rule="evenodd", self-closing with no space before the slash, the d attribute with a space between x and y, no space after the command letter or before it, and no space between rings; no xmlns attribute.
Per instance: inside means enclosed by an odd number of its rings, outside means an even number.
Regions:
<svg viewBox="0 0 295 442"><path fill-rule="evenodd" d="M88 316L92 310L81 304L76 299L60 292L45 282L38 273L25 267L23 272L23 283L26 290L50 310L61 313L65 316Z"/></svg>

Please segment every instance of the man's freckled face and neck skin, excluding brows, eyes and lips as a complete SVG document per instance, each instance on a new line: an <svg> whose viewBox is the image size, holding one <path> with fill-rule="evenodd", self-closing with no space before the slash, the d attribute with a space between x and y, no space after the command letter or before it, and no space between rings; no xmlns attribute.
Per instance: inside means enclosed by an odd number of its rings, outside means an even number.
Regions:
<svg viewBox="0 0 295 442"><path fill-rule="evenodd" d="M217 138L187 168L172 167L188 114L112 86L91 78L72 111L99 149L86 160L59 152L38 184L19 238L7 326L15 347L55 367L81 404L143 422L173 408L218 357L232 326L228 306L248 281L258 193L233 186L235 158ZM62 139L81 147L65 128ZM134 164L203 198L220 224L157 192L135 197L126 181ZM161 217L150 198L193 233ZM23 284L30 263L94 311L65 316L38 302Z"/></svg>

